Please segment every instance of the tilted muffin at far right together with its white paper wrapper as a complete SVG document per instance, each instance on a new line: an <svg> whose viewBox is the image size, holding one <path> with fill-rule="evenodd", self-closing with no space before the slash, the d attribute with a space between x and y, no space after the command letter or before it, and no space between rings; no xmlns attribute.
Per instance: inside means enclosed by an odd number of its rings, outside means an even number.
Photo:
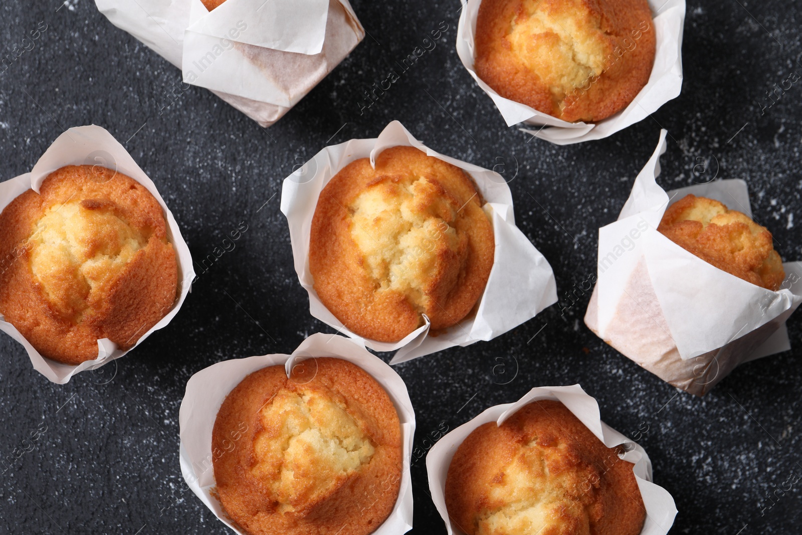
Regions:
<svg viewBox="0 0 802 535"><path fill-rule="evenodd" d="M743 180L663 190L665 148L662 131L618 221L599 229L585 324L674 387L705 395L740 364L790 348L784 323L802 303L802 263L783 264L772 234L746 215ZM670 205L677 196L687 197Z"/></svg>

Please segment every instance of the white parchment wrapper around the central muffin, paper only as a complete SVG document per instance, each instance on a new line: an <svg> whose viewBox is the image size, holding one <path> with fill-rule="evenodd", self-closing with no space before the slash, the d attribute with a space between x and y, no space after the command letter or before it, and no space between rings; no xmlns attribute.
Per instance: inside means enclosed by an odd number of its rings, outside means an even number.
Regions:
<svg viewBox="0 0 802 535"><path fill-rule="evenodd" d="M362 338L342 325L318 298L309 267L309 241L312 217L322 189L347 164L359 158L371 158L385 148L406 145L416 147L472 176L484 197L485 212L491 216L496 238L496 253L488 284L480 298L476 314L469 314L460 323L428 336L429 322L408 334L400 342L377 342ZM533 318L545 307L557 302L557 285L545 257L535 249L524 233L515 226L512 215L512 193L496 172L443 156L427 148L393 121L379 137L371 140L350 140L324 148L284 180L282 213L290 224L295 271L301 285L309 292L310 313L351 338L358 339L375 351L396 351L391 364L402 363L448 347L467 346L478 340L490 340Z"/></svg>

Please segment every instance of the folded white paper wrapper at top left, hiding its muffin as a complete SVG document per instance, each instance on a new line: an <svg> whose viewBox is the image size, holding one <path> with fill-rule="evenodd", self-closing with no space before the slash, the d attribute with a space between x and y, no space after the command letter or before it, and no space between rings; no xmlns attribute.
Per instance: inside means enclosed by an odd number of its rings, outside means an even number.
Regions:
<svg viewBox="0 0 802 535"><path fill-rule="evenodd" d="M122 30L263 127L362 41L348 0L95 0ZM172 102L172 101L171 101Z"/></svg>

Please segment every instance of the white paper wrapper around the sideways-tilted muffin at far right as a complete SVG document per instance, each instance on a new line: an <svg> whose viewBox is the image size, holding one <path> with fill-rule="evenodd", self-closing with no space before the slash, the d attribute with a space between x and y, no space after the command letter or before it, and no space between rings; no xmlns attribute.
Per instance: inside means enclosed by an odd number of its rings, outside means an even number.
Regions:
<svg viewBox="0 0 802 535"><path fill-rule="evenodd" d="M655 181L665 151L662 131L618 221L599 229L598 277L585 324L674 387L704 395L740 363L790 349L785 320L802 302L802 262L785 262L780 290L765 290L659 233L666 208L689 193L751 217L743 180L666 193Z"/></svg>

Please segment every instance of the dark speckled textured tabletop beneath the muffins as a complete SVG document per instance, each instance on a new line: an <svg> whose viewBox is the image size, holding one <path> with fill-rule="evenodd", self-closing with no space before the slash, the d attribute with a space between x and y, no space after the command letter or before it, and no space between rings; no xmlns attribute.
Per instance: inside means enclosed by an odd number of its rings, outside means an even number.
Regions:
<svg viewBox="0 0 802 535"><path fill-rule="evenodd" d="M227 532L181 477L184 385L223 359L289 353L308 334L334 332L308 313L278 209L282 180L326 144L374 137L391 120L439 152L504 172L517 224L551 262L561 296L595 273L597 229L617 217L661 126L670 132L663 186L716 172L747 180L784 260L802 259L802 80L776 103L767 96L802 73L798 3L690 2L683 94L606 140L569 147L504 125L456 55L458 2L353 5L370 35L269 130L205 89L183 91L175 67L91 0L0 6L2 180L29 171L65 129L94 123L156 181L193 256L248 229L167 328L67 385L49 383L0 335L0 532ZM441 21L437 47L360 115L363 91ZM415 447L533 386L581 383L608 424L642 432L654 480L679 509L672 533L799 533L800 484L767 496L802 476L802 314L788 323L794 351L739 367L698 399L594 336L582 322L588 298L570 306L563 297L492 342L395 367L415 406ZM415 533L444 533L423 460L412 480Z"/></svg>

